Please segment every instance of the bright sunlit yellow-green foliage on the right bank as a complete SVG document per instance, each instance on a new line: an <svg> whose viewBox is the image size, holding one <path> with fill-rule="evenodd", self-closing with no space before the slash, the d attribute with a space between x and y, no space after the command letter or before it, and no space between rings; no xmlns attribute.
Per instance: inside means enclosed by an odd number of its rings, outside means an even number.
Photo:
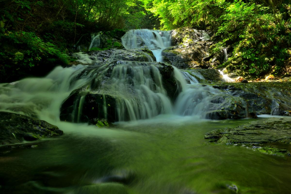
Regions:
<svg viewBox="0 0 291 194"><path fill-rule="evenodd" d="M159 17L161 29L182 26L208 30L218 41L214 50L233 47L223 64L258 76L286 74L291 66L291 4L289 0L144 0Z"/></svg>

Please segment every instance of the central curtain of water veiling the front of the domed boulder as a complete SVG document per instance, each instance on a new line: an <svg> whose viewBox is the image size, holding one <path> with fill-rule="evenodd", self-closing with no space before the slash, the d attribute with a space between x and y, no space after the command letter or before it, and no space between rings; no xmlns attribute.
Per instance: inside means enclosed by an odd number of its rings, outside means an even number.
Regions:
<svg viewBox="0 0 291 194"><path fill-rule="evenodd" d="M107 82L110 94L116 98L120 121L152 118L172 112L162 76L152 63L120 62L113 67Z"/></svg>

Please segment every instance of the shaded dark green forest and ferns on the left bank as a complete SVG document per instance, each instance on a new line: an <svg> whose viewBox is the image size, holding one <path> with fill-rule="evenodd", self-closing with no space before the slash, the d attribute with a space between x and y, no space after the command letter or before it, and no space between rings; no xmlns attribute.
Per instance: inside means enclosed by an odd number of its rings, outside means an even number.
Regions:
<svg viewBox="0 0 291 194"><path fill-rule="evenodd" d="M140 4L135 0L0 0L0 82L42 76L55 65L68 64L68 52L85 33L152 28Z"/></svg>

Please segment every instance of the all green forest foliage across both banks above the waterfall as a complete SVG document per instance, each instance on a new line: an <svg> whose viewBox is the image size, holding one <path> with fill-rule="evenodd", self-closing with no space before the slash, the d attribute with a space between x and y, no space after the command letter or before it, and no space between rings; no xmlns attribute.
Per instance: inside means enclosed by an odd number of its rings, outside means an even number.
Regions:
<svg viewBox="0 0 291 194"><path fill-rule="evenodd" d="M288 0L0 0L0 7L1 82L68 64L85 33L183 26L210 31L213 51L232 48L220 67L291 73Z"/></svg>

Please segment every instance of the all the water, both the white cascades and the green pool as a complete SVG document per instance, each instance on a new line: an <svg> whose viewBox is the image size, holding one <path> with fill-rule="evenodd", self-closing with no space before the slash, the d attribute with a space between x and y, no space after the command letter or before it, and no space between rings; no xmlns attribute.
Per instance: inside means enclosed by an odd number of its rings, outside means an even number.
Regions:
<svg viewBox="0 0 291 194"><path fill-rule="evenodd" d="M123 37L123 45L134 49L144 43L156 60L162 61L162 50L171 45L170 39L168 32L136 30ZM114 55L111 61L117 57ZM290 193L290 158L204 139L209 131L237 127L253 119L205 119L205 111L213 106L208 97L221 91L201 87L189 72L177 68L174 72L180 94L174 103L170 102L159 70L152 60L148 61L120 61L115 66L108 62L86 74L86 65L56 67L44 78L1 84L1 110L46 120L64 134L0 155L0 192ZM110 94L118 98L118 122L112 127L98 128L61 121L63 101L73 90L98 80L108 67L113 67L113 71L105 86L110 86ZM133 80L126 76L129 70L134 72ZM149 71L154 72L153 79ZM101 91L108 95L108 91ZM129 98L128 91L137 97ZM76 122L80 121L82 99L77 106Z"/></svg>

